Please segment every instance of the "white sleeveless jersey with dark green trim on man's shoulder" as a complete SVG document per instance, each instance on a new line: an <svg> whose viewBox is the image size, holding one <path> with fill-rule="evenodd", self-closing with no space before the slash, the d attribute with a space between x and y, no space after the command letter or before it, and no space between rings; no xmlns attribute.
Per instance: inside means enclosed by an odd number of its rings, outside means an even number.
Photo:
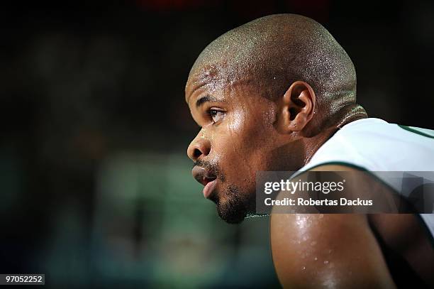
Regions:
<svg viewBox="0 0 434 289"><path fill-rule="evenodd" d="M339 129L299 171L318 165L342 164L372 172L426 172L434 175L434 131L389 124L382 119L359 119ZM429 172L429 173L428 173ZM401 192L402 184L377 176ZM421 214L434 236L434 214Z"/></svg>

